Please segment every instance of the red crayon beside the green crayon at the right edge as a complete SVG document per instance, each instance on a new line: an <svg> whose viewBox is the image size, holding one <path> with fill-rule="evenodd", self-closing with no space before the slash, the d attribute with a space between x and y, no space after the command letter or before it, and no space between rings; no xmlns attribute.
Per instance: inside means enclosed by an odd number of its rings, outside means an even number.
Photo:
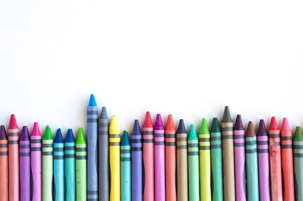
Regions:
<svg viewBox="0 0 303 201"><path fill-rule="evenodd" d="M283 201L294 201L292 134L286 117L282 120L280 135Z"/></svg>

